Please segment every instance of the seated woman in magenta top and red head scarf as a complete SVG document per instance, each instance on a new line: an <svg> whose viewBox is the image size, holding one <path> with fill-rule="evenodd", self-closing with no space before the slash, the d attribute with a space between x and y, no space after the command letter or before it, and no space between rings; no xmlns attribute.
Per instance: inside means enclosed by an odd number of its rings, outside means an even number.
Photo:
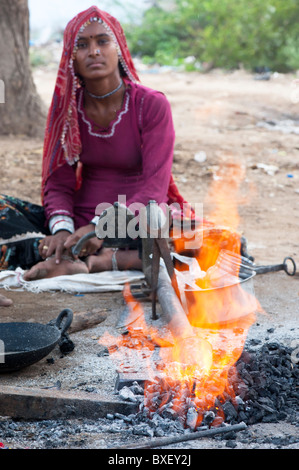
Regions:
<svg viewBox="0 0 299 470"><path fill-rule="evenodd" d="M138 82L115 18L93 6L69 22L45 132L43 206L7 197L2 201L13 210L0 217L1 234L15 211L22 217L32 218L33 213L36 219L30 221L25 239L14 240L7 233L2 240L6 269L29 268L27 281L141 269L136 247L115 252L96 237L78 259L70 256L71 247L94 230L100 203L113 204L119 195L126 196L128 206L146 205L151 199L185 202L171 176L175 134L170 105L162 93ZM5 256L9 249L10 258ZM28 256L20 264L24 251Z"/></svg>

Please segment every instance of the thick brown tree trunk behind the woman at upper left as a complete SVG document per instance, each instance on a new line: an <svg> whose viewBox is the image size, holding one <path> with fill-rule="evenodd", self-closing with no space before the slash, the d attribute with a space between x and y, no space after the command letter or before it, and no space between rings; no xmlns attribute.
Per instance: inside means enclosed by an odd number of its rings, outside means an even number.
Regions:
<svg viewBox="0 0 299 470"><path fill-rule="evenodd" d="M29 62L27 0L0 0L0 44L0 80L4 85L0 134L42 137L46 106L37 94Z"/></svg>

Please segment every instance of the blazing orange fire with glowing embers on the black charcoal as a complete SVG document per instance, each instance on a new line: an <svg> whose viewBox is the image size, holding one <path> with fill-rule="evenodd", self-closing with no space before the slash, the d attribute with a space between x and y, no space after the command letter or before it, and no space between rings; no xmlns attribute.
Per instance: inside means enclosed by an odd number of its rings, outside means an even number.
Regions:
<svg viewBox="0 0 299 470"><path fill-rule="evenodd" d="M118 340L119 345L135 351L147 348L153 353L156 346L160 347L163 367L158 374L151 370L145 406L149 413L168 406L186 425L192 422L194 429L210 409L215 412L212 425L223 421L221 403L228 396L234 400L234 365L259 310L251 288L252 275L239 278L242 258L236 201L244 172L235 164L226 165L224 170L211 187L215 208L209 222L199 229L202 245L195 254L203 275L195 279L197 289L186 286L181 293L192 334L182 331L179 338L172 336L165 341L157 328L147 324L141 305L126 286L124 297L136 320L128 322L127 335ZM174 240L174 246L182 252L183 238ZM178 271L182 271L181 266ZM148 367L152 368L150 361Z"/></svg>

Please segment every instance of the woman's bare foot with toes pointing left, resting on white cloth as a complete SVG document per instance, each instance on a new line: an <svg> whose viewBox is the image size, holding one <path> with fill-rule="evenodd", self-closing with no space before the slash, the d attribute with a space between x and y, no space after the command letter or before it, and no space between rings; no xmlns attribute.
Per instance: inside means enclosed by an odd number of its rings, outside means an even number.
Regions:
<svg viewBox="0 0 299 470"><path fill-rule="evenodd" d="M84 261L62 259L59 264L56 264L55 257L48 258L34 265L31 269L25 272L25 281L36 281L38 279L49 279L56 276L67 276L70 274L88 273L88 268Z"/></svg>

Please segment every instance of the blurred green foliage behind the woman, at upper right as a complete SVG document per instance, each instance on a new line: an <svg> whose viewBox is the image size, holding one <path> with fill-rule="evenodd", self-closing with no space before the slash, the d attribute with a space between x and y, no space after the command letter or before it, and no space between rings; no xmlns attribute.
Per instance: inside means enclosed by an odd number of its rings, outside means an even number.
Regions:
<svg viewBox="0 0 299 470"><path fill-rule="evenodd" d="M153 3L141 24L125 27L134 55L166 65L194 56L227 69L299 69L298 0Z"/></svg>

